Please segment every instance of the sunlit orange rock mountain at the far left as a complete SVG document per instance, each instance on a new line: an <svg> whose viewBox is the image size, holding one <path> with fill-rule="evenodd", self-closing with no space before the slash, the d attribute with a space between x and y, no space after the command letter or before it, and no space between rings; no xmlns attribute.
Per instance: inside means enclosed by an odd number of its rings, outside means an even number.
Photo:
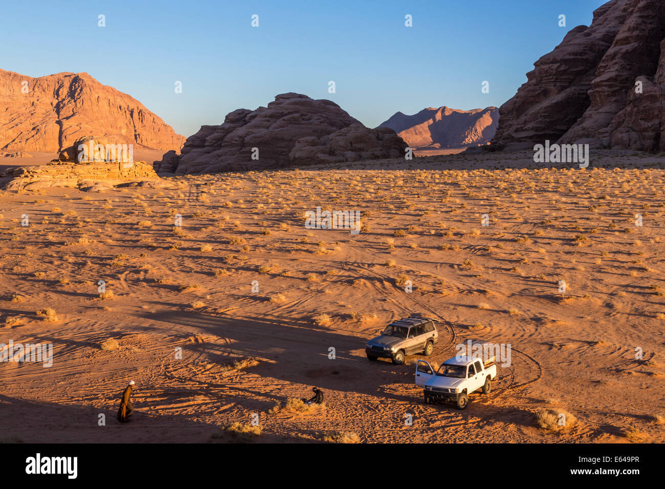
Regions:
<svg viewBox="0 0 665 489"><path fill-rule="evenodd" d="M32 78L0 70L0 106L1 150L61 152L88 134L159 150L180 150L185 141L138 100L87 73Z"/></svg>

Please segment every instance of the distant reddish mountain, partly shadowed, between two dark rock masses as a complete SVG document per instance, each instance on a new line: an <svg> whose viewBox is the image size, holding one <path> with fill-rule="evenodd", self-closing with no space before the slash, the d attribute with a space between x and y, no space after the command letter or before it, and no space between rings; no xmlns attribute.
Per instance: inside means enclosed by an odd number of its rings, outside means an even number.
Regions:
<svg viewBox="0 0 665 489"><path fill-rule="evenodd" d="M443 106L424 108L412 116L397 112L379 127L391 128L411 148L464 148L487 144L498 120L496 107L456 110Z"/></svg>

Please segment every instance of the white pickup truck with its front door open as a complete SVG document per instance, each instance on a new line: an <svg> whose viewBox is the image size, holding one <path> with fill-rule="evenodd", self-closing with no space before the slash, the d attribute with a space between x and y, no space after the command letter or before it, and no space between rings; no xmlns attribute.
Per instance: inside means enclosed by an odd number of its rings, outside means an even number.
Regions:
<svg viewBox="0 0 665 489"><path fill-rule="evenodd" d="M469 394L482 389L489 394L497 376L494 359L483 361L477 357L452 357L435 372L424 360L416 363L416 385L423 387L425 403L436 401L455 403L458 409L469 405Z"/></svg>

